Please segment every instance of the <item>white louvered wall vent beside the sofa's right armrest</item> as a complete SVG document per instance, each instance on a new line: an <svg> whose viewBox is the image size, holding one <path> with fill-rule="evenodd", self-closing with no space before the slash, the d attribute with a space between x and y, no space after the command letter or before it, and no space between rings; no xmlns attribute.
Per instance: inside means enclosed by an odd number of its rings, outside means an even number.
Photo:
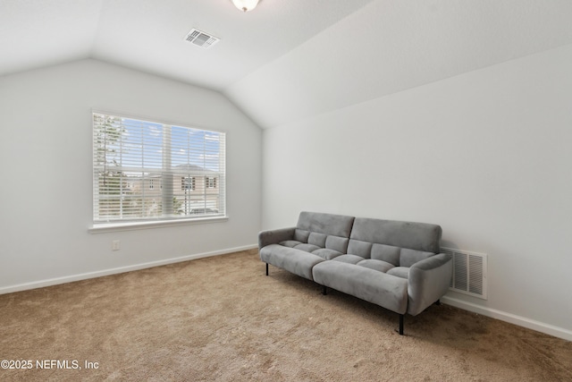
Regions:
<svg viewBox="0 0 572 382"><path fill-rule="evenodd" d="M450 290L486 300L486 254L441 248L453 257Z"/></svg>

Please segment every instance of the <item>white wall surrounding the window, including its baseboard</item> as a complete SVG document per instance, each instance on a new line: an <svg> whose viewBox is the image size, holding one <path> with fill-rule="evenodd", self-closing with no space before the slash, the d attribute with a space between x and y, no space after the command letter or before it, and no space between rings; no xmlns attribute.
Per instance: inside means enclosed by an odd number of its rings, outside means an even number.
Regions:
<svg viewBox="0 0 572 382"><path fill-rule="evenodd" d="M88 233L92 108L227 132L228 221ZM257 243L261 131L218 92L84 60L0 78L0 116L0 293Z"/></svg>

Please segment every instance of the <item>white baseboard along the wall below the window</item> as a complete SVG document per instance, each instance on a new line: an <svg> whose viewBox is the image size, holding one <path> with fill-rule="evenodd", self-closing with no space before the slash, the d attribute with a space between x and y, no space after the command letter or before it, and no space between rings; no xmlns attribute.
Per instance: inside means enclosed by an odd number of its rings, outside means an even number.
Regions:
<svg viewBox="0 0 572 382"><path fill-rule="evenodd" d="M252 250L255 248L258 248L258 244L245 245L243 247L229 248L226 250L214 250L212 252L205 252L205 253L198 253L195 255L182 256L180 258L151 261L151 262L135 264L132 266L127 266L127 267L115 267L115 268L111 268L111 269L100 270L97 272L82 273L80 275L56 277L56 278L50 278L47 280L34 281L31 283L4 286L4 287L0 288L0 294L28 291L29 289L43 288L45 286L51 286L51 285L56 285L56 284L72 283L74 281L87 280L88 278L96 278L96 277L102 277L102 276L116 275L119 273L125 273L125 272L134 271L134 270L145 269L145 268L149 268L149 267L160 267L160 266L164 266L167 264L179 263L182 261L189 261L189 260L194 260L194 259L209 258L211 256L225 255L227 253L240 252L241 250Z"/></svg>

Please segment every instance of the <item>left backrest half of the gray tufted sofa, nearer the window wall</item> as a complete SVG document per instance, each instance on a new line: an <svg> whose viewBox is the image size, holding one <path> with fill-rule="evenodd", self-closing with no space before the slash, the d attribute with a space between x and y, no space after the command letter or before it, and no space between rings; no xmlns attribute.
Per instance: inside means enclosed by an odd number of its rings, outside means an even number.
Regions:
<svg viewBox="0 0 572 382"><path fill-rule="evenodd" d="M294 240L346 253L353 216L300 212Z"/></svg>

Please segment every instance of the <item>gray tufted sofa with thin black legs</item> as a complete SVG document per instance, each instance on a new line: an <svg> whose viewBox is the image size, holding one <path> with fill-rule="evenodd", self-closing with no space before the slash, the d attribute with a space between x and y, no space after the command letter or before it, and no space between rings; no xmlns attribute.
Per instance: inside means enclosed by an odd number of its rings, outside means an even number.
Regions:
<svg viewBox="0 0 572 382"><path fill-rule="evenodd" d="M295 227L258 234L260 259L324 286L416 316L447 293L452 261L439 225L303 211Z"/></svg>

